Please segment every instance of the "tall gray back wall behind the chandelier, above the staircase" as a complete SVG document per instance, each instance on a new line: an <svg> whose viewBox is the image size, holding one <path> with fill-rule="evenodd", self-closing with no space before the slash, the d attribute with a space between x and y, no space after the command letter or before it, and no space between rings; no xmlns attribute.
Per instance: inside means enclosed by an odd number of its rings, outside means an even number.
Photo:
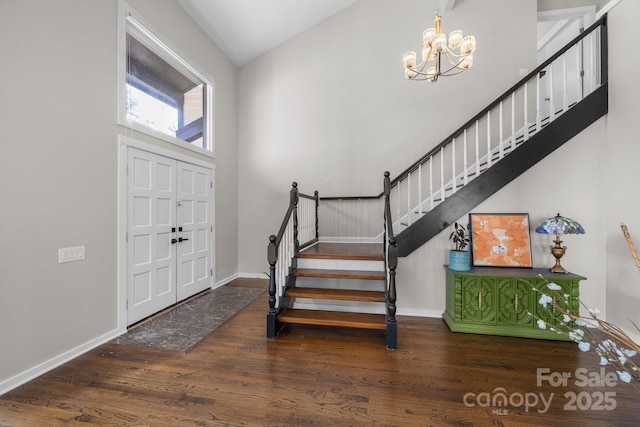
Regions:
<svg viewBox="0 0 640 427"><path fill-rule="evenodd" d="M442 25L476 36L472 69L436 84L405 80L402 55L421 48L436 3L359 1L241 67L240 272L266 268L292 181L308 194L377 195L385 170L401 173L535 68L535 1L465 1L441 11ZM429 305L411 299L417 289L426 288L403 283L405 309Z"/></svg>

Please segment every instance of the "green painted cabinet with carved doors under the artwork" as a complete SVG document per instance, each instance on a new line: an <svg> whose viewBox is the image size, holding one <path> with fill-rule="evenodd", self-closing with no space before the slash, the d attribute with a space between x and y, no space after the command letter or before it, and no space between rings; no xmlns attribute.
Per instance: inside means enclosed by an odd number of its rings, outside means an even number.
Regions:
<svg viewBox="0 0 640 427"><path fill-rule="evenodd" d="M585 278L542 268L447 268L447 305L442 317L453 332L567 340L566 335L540 329L528 313L555 321L552 305L542 307L541 293L534 290L546 289L547 282L561 286L561 292L569 295L570 310L578 312L581 280Z"/></svg>

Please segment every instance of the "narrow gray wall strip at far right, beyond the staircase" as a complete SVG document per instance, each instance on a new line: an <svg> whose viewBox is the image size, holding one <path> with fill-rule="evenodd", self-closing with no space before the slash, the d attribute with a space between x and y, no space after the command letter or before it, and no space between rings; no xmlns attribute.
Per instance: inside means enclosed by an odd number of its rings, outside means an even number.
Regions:
<svg viewBox="0 0 640 427"><path fill-rule="evenodd" d="M606 285L607 320L640 339L640 332L630 322L640 325L640 274L620 231L620 222L624 222L640 251L637 136L640 91L636 84L640 53L625 46L625 40L640 39L638 16L640 2L633 0L622 1L609 13L609 114L601 120L603 131L595 136L594 144L596 167L604 168L606 173L593 197L604 212L595 227L601 233L598 257L606 260L606 278L598 285ZM603 304L600 301L599 307Z"/></svg>

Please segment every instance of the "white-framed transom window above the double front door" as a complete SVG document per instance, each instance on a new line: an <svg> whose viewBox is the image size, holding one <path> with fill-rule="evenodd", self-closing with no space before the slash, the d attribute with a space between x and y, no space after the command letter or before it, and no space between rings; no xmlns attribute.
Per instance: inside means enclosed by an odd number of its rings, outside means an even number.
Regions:
<svg viewBox="0 0 640 427"><path fill-rule="evenodd" d="M120 2L119 122L213 156L213 84Z"/></svg>

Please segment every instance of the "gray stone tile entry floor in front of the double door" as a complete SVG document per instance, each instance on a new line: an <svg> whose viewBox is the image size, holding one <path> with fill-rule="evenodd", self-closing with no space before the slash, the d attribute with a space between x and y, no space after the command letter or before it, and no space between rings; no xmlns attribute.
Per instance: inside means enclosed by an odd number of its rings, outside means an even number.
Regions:
<svg viewBox="0 0 640 427"><path fill-rule="evenodd" d="M265 291L227 286L206 291L142 321L111 343L188 351Z"/></svg>

